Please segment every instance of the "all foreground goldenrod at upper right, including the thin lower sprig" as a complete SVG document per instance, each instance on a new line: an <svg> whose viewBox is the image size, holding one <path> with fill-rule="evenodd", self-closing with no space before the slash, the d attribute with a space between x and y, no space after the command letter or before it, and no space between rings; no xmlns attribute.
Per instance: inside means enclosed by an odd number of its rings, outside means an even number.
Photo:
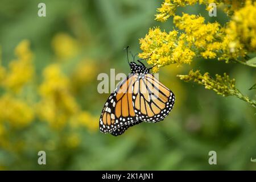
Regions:
<svg viewBox="0 0 256 182"><path fill-rule="evenodd" d="M215 3L229 16L230 22L221 26L219 23L205 22L201 15L183 13L176 15L177 7L204 4L209 11ZM161 31L160 28L149 30L148 34L139 40L142 52L139 57L147 59L148 64L157 65L153 71L168 64L190 64L195 57L204 59L224 60L255 67L247 60L247 53L256 51L256 2L251 0L165 0L157 10L156 20L166 21L173 16L178 30ZM172 29L172 28L171 28ZM199 71L179 75L181 80L195 81L212 89L222 96L237 96L243 101L255 106L255 101L243 96L236 88L235 81L229 76L216 75L214 80L209 73L201 75Z"/></svg>

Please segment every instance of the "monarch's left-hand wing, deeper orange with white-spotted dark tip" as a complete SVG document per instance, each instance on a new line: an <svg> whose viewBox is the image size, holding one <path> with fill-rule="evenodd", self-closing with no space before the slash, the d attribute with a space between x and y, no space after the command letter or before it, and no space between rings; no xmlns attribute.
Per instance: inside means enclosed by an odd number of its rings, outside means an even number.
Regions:
<svg viewBox="0 0 256 182"><path fill-rule="evenodd" d="M120 135L138 121L132 101L132 87L137 78L136 74L130 74L106 101L100 117L100 130L103 133Z"/></svg>

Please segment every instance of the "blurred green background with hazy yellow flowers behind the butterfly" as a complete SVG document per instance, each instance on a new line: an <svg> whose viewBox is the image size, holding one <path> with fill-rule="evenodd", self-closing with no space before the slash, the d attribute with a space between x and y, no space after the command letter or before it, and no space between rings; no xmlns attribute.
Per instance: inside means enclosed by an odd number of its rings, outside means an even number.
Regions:
<svg viewBox="0 0 256 182"><path fill-rule="evenodd" d="M176 95L171 114L159 123L131 127L120 137L100 133L98 119L109 94L97 92L97 75L110 74L110 68L128 74L123 48L140 52L139 38L150 27L172 30L171 19L154 20L161 1L0 2L6 75L0 89L0 169L256 169L250 162L256 158L255 109L176 77L192 68L212 75L227 72L242 93L255 98L248 90L255 70L239 64L196 60L190 66L164 67L159 80ZM46 3L46 17L38 16L40 2ZM209 17L205 6L185 7L177 14L183 11L210 22L228 21L221 10ZM25 61L19 66L12 60ZM46 151L47 165L38 164L40 150ZM208 163L212 150L217 165Z"/></svg>

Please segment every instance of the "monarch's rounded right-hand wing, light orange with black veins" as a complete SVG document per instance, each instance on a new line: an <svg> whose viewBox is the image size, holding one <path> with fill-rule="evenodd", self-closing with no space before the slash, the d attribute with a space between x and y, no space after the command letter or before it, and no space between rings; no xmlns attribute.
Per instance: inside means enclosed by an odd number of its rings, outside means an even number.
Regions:
<svg viewBox="0 0 256 182"><path fill-rule="evenodd" d="M133 106L136 115L142 121L162 121L172 110L174 102L174 93L151 73L140 74L135 81Z"/></svg>

